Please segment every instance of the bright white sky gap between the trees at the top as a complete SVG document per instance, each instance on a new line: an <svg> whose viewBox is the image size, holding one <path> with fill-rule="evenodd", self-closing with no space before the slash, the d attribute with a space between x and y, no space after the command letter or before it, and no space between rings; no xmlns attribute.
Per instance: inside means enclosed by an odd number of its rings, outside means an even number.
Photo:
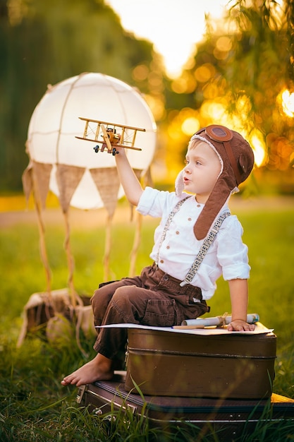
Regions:
<svg viewBox="0 0 294 442"><path fill-rule="evenodd" d="M194 54L195 44L202 40L205 14L212 16L215 26L228 0L181 0L180 4L178 0L106 0L106 4L120 16L125 30L154 43L167 73L176 78ZM228 46L225 41L220 44Z"/></svg>

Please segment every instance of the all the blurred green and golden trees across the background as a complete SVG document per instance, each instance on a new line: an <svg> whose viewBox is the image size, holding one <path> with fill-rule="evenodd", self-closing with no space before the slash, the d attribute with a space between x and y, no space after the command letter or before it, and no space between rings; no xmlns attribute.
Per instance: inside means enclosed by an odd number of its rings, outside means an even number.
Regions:
<svg viewBox="0 0 294 442"><path fill-rule="evenodd" d="M228 2L178 78L104 0L0 0L0 191L20 191L27 126L55 84L99 72L137 87L159 126L154 179L169 185L193 132L219 123L255 150L255 182L294 193L293 1ZM94 116L93 116L94 117Z"/></svg>

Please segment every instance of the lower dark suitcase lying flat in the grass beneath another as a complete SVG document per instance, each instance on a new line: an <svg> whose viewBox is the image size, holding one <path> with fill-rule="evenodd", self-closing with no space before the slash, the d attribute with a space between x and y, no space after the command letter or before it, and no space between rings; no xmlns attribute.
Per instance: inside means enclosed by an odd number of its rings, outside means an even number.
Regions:
<svg viewBox="0 0 294 442"><path fill-rule="evenodd" d="M146 417L150 428L162 427L171 433L185 428L189 433L202 431L206 436L217 432L218 440L226 442L244 432L251 434L257 426L273 430L282 422L287 423L288 428L293 424L294 428L294 400L281 395L273 393L266 400L141 397L125 391L124 376L124 372L116 372L112 381L80 387L77 402L104 418L122 411L127 419L128 413Z"/></svg>

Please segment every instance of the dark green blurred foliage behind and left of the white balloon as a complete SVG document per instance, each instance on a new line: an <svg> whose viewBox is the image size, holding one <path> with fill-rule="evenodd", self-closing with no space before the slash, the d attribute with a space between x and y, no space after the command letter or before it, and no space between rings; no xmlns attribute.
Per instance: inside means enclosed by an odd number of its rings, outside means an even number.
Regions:
<svg viewBox="0 0 294 442"><path fill-rule="evenodd" d="M27 128L47 85L82 72L105 73L136 85L133 68L137 64L149 66L152 51L151 43L137 40L123 30L118 16L102 0L23 0L3 4L0 188L21 189L28 160Z"/></svg>

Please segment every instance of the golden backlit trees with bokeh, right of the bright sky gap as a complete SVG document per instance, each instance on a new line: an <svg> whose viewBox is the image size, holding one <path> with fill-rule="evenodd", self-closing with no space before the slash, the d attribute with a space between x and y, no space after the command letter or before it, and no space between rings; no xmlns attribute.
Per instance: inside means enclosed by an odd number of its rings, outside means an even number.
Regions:
<svg viewBox="0 0 294 442"><path fill-rule="evenodd" d="M257 165L264 172L283 171L294 189L289 168L294 157L294 113L286 114L283 102L283 92L294 91L294 2L228 4L226 30L222 23L212 32L208 20L207 35L197 45L189 68L176 80L173 91L187 96L188 109L173 111L170 127L183 131L190 120L192 134L216 122L231 126L249 139ZM182 145L184 150L186 140Z"/></svg>

